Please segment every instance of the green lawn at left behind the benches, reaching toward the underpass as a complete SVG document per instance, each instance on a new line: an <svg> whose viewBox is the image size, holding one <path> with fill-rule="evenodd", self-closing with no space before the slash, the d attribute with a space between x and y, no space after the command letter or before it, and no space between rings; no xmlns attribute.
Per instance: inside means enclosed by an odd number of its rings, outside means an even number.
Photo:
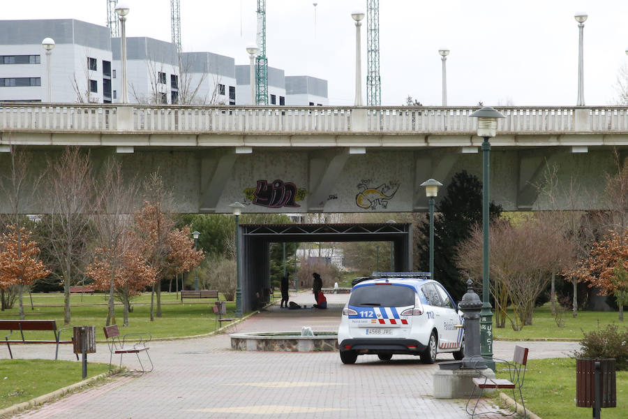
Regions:
<svg viewBox="0 0 628 419"><path fill-rule="evenodd" d="M222 297L222 296L221 296ZM224 298L222 298L224 299ZM84 295L80 302L80 295L71 296L72 322L75 325L96 325L96 339L105 339L103 326L107 319L107 305L102 294ZM174 293L162 293L162 317L150 321L150 293L141 295L133 300L133 313L129 314L129 325L121 329L122 334L136 332L150 332L153 337L177 337L202 335L216 330L217 325L211 306L216 300L204 298L199 300L184 300L181 304ZM57 328L63 328L63 295L33 294L34 310L28 300L24 298L24 314L28 319L56 320ZM98 304L98 305L94 305ZM234 317L235 303L227 302L227 317ZM116 320L121 326L123 322L122 305L116 305ZM12 309L0 312L0 319L19 318L17 302ZM67 335L66 335L67 334ZM62 332L61 338L68 338L72 330ZM15 333L13 334L15 336ZM51 332L24 332L26 339L51 338ZM3 337L4 335L2 335ZM15 351L19 351L19 345Z"/></svg>

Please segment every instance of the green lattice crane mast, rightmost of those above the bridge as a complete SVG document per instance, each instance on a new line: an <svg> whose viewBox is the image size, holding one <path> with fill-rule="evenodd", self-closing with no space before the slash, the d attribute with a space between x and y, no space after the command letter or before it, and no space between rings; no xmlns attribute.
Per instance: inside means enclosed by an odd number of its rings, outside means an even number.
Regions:
<svg viewBox="0 0 628 419"><path fill-rule="evenodd" d="M366 105L380 106L380 0L366 0L366 34Z"/></svg>

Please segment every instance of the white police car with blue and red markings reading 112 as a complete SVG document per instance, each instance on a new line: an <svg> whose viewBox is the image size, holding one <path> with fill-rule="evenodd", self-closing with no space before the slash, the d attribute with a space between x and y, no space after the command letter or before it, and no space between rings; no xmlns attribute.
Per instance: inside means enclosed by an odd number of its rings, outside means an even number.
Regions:
<svg viewBox="0 0 628 419"><path fill-rule="evenodd" d="M436 354L464 358L463 313L441 284L425 272L373 273L351 290L338 328L341 360L374 353L390 360L395 353L419 355L431 364Z"/></svg>

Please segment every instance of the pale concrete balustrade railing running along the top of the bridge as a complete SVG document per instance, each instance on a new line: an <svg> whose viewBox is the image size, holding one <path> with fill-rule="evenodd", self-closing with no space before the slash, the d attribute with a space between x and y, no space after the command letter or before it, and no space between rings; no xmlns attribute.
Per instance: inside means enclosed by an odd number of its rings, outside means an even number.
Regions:
<svg viewBox="0 0 628 419"><path fill-rule="evenodd" d="M627 132L627 107L498 107L498 133ZM125 110L126 112L122 112ZM0 103L4 131L474 133L477 107L179 106ZM126 118L126 119L125 119Z"/></svg>

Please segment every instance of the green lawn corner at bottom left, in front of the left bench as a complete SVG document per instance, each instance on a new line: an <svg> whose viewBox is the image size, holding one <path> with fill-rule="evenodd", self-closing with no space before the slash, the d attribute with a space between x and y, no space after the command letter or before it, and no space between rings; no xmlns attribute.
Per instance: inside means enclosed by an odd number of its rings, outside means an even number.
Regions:
<svg viewBox="0 0 628 419"><path fill-rule="evenodd" d="M89 363L87 376L107 372L109 365ZM45 395L82 380L81 362L1 360L0 409Z"/></svg>

